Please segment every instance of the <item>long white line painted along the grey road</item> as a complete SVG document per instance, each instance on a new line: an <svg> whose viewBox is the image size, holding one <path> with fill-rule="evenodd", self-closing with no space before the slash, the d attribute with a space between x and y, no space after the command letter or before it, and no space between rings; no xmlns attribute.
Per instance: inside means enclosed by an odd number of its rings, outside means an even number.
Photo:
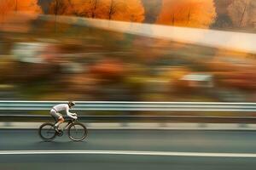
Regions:
<svg viewBox="0 0 256 170"><path fill-rule="evenodd" d="M211 153L136 150L0 150L0 155L90 154L132 156L193 156L193 157L240 157L256 158L256 153Z"/></svg>

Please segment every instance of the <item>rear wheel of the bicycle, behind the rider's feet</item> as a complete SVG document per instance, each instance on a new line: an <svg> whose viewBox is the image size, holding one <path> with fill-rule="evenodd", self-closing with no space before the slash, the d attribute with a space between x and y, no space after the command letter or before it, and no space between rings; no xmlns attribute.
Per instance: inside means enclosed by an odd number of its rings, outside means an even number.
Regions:
<svg viewBox="0 0 256 170"><path fill-rule="evenodd" d="M57 132L55 131L54 124L46 122L39 127L39 136L44 141L51 141L55 139Z"/></svg>

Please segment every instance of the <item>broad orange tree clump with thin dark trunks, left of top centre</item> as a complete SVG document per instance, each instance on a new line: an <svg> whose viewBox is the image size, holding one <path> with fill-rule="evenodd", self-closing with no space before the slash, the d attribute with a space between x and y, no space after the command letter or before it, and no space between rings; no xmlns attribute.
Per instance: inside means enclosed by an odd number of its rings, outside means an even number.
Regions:
<svg viewBox="0 0 256 170"><path fill-rule="evenodd" d="M69 0L73 14L88 18L142 22L143 3L140 0Z"/></svg>

